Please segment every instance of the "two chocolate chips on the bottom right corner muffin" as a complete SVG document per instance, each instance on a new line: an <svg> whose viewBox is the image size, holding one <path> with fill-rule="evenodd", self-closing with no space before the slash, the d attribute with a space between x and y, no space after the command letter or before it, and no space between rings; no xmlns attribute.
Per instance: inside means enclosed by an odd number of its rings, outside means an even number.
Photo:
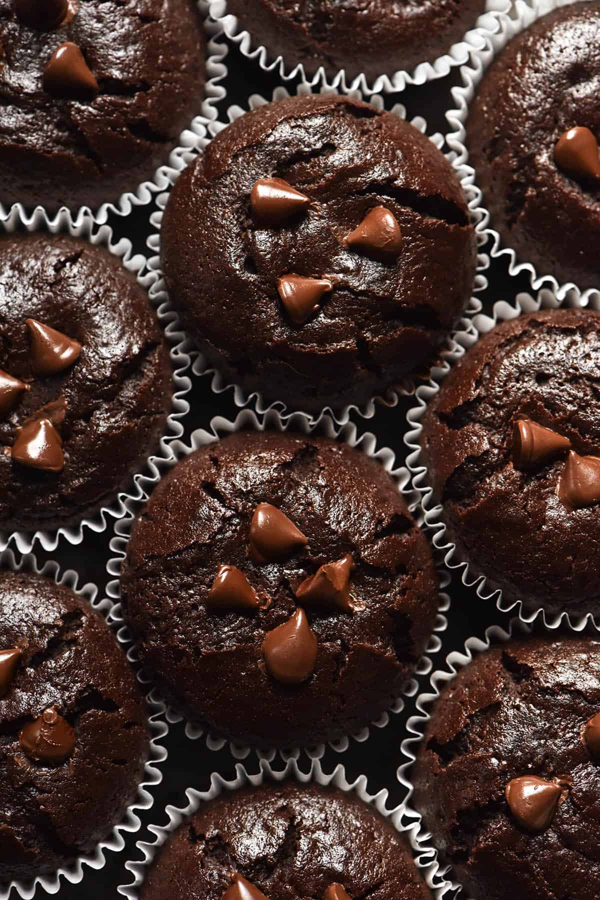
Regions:
<svg viewBox="0 0 600 900"><path fill-rule="evenodd" d="M581 742L590 758L600 762L600 713L581 726ZM542 779L538 775L522 775L509 781L505 797L516 824L527 832L545 832L568 796L570 784L571 779Z"/></svg>

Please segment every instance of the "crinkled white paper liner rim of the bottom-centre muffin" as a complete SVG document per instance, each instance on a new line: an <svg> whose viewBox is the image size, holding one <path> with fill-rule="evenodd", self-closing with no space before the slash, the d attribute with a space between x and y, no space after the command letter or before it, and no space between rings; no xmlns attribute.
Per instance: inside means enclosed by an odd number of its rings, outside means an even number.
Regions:
<svg viewBox="0 0 600 900"><path fill-rule="evenodd" d="M141 851L144 859L142 861L130 860L125 863L125 869L130 871L135 880L129 885L121 885L117 890L122 896L128 897L129 900L138 900L139 887L144 880L146 869L156 856L157 850L159 847L162 847L169 835L183 822L184 818L198 812L201 804L214 800L224 791L236 791L250 786L257 787L263 784L264 781L281 782L291 779L299 781L300 784L316 782L323 787L333 785L335 788L344 791L344 793L353 793L363 800L364 803L374 806L380 815L390 821L397 832L406 835L413 851L419 854L416 858L413 856L413 861L416 869L420 871L422 878L425 879L425 883L432 890L438 887L439 879L435 876L436 867L429 859L429 854L424 855L418 842L416 842L418 825L405 821L406 805L404 803L392 809L388 808L386 804L389 795L385 788L377 794L370 794L367 776L359 775L353 782L349 782L346 779L344 766L339 763L331 773L327 774L318 760L311 761L308 772L300 770L296 760L289 760L285 769L281 771L273 770L267 761L262 760L260 761L259 771L256 774L249 774L244 766L237 763L235 779L228 781L219 775L218 772L213 772L210 776L210 788L208 790L198 791L194 788L187 788L185 791L186 806L166 807L165 813L168 815L168 824L148 826L148 831L155 835L156 840L154 842L138 841L136 843L136 847Z"/></svg>

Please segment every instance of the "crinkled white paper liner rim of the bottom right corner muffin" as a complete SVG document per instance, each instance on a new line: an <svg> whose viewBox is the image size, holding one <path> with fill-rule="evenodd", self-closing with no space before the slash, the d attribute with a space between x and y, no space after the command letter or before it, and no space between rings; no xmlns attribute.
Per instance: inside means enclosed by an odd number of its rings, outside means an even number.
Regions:
<svg viewBox="0 0 600 900"><path fill-rule="evenodd" d="M434 706L445 685L455 678L459 670L468 666L475 656L479 656L480 653L485 653L489 650L492 644L506 644L506 641L513 637L530 635L533 630L532 626L526 625L517 618L511 619L507 627L508 630L506 631L497 625L489 626L485 631L483 640L479 637L469 637L464 643L464 652L453 650L452 653L448 653L445 659L446 668L434 671L429 680L430 688L433 692L424 692L416 698L415 706L421 715L410 716L407 721L407 731L415 736L405 738L400 745L401 752L408 762L403 762L399 766L397 775L403 788L407 788L407 797L405 799L406 815L410 818L416 818L414 841L424 856L430 860L433 869L432 878L443 882L434 889L435 900L441 900L443 896L446 896L451 891L458 890L461 888L461 884L453 879L449 880L446 878L448 874L452 875L452 865L440 860L440 854L431 844L432 835L426 831L423 824L423 817L413 806L410 806L414 788L409 778L409 771L416 760L419 744L422 743L425 736L425 727L431 718L430 707ZM452 894L452 896L454 895ZM461 900L472 900L472 898L467 896L465 892L464 897L461 894Z"/></svg>

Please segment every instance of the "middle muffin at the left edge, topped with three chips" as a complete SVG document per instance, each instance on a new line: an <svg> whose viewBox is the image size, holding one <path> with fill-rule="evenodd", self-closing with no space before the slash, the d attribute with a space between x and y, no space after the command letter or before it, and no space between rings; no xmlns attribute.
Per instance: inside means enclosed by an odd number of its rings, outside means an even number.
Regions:
<svg viewBox="0 0 600 900"><path fill-rule="evenodd" d="M78 522L128 486L171 407L148 296L103 247L0 238L0 529Z"/></svg>

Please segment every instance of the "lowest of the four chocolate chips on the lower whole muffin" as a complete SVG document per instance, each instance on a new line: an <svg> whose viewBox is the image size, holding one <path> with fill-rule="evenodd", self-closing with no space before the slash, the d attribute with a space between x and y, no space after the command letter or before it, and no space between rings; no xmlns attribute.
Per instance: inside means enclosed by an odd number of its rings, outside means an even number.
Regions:
<svg viewBox="0 0 600 900"><path fill-rule="evenodd" d="M317 662L317 637L303 609L297 609L283 625L268 632L263 641L266 667L283 684L308 679Z"/></svg>

